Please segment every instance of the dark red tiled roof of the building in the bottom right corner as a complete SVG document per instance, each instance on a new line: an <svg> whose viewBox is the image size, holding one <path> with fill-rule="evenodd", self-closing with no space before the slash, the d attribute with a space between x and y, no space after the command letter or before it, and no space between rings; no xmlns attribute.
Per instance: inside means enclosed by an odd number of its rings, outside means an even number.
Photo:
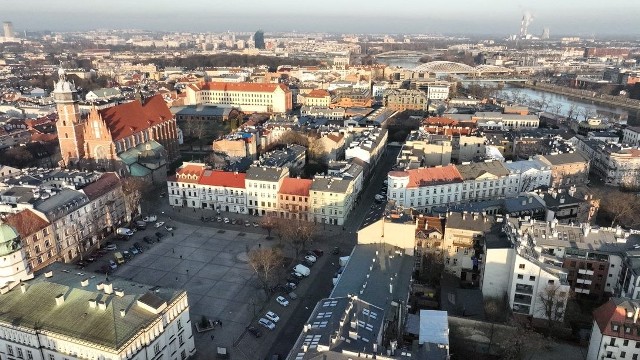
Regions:
<svg viewBox="0 0 640 360"><path fill-rule="evenodd" d="M634 323L634 318L627 318L627 310L633 311L634 305L638 306L637 300L615 298L593 311L593 320L598 324L603 335L612 337L640 340L637 327L639 322ZM618 331L613 331L613 324L618 325ZM625 325L631 327L630 332L625 332Z"/></svg>

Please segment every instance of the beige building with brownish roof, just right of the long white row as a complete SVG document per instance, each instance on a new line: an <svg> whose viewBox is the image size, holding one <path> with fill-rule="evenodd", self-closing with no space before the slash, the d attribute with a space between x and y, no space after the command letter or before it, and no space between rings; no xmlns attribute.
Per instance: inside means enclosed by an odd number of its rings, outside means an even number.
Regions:
<svg viewBox="0 0 640 360"><path fill-rule="evenodd" d="M551 167L551 187L585 185L589 180L589 159L578 152L536 155L534 159Z"/></svg>

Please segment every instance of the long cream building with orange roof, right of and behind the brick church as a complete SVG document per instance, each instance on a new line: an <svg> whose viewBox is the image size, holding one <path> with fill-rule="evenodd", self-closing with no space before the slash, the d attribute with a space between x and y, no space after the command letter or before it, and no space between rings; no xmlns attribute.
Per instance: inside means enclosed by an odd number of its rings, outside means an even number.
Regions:
<svg viewBox="0 0 640 360"><path fill-rule="evenodd" d="M187 105L233 107L243 112L287 113L293 107L291 90L284 84L208 82L185 89Z"/></svg>

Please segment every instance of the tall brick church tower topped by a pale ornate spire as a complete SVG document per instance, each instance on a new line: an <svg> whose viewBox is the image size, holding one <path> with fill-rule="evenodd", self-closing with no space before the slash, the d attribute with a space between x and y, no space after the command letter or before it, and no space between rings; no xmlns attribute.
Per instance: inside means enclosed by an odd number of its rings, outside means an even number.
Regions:
<svg viewBox="0 0 640 360"><path fill-rule="evenodd" d="M62 166L69 167L84 157L84 123L80 116L75 84L67 80L63 68L58 70L58 77L53 90L53 99L58 110L56 129Z"/></svg>

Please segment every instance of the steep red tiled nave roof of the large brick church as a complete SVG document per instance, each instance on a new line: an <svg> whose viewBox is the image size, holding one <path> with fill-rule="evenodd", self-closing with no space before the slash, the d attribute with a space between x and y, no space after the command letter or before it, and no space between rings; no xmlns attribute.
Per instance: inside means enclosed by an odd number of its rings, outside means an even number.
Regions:
<svg viewBox="0 0 640 360"><path fill-rule="evenodd" d="M132 101L98 111L117 141L173 118L162 95L154 95L144 104Z"/></svg>

